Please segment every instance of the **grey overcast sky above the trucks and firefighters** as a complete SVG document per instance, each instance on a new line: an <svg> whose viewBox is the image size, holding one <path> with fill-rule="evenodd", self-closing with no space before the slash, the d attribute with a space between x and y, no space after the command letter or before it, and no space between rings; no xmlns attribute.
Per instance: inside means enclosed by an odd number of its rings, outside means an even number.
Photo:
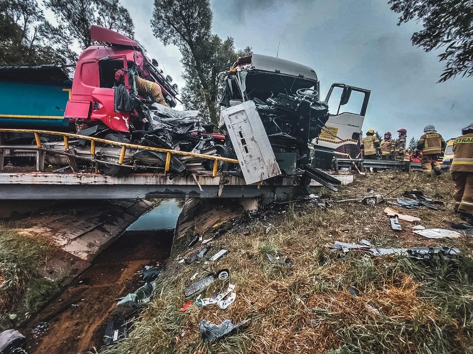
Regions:
<svg viewBox="0 0 473 354"><path fill-rule="evenodd" d="M152 0L122 0L136 37L150 58L164 64L180 88L180 53L153 37ZM422 135L434 124L445 139L473 121L473 79L436 84L443 64L435 53L412 47L415 23L398 27L387 0L213 0L213 31L233 36L236 48L300 62L316 71L325 97L334 82L371 89L363 125L381 134L407 129Z"/></svg>

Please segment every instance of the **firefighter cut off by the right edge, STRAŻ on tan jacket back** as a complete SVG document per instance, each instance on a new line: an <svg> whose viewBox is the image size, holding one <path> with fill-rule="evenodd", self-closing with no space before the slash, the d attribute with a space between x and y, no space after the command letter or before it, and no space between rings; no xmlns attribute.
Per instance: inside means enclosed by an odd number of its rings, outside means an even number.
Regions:
<svg viewBox="0 0 473 354"><path fill-rule="evenodd" d="M450 171L455 182L454 210L473 216L473 123L462 129L462 136L453 143Z"/></svg>

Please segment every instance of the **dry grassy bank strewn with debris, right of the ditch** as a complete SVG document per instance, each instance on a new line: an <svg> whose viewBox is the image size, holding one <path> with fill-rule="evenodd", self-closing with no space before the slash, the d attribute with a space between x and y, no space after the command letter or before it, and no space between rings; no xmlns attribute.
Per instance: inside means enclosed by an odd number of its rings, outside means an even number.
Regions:
<svg viewBox="0 0 473 354"><path fill-rule="evenodd" d="M425 227L457 222L450 212L453 192L449 176L427 179L421 174L379 173L357 177L334 194L337 199L363 197L367 188L383 193L406 182L394 194L423 189L445 202L443 210L408 210ZM131 336L105 353L473 353L473 265L471 237L428 240L410 224L394 234L385 205L337 204L322 210L311 203L277 209L252 219L214 241L214 249L230 250L212 270L229 268L236 301L226 310L193 304L184 314L183 288L199 271L197 264L178 268L173 260L161 279L155 300L141 314ZM403 210L404 212L404 210ZM271 220L271 216L274 218ZM273 220L282 219L282 222ZM273 227L266 232L269 222ZM245 236L242 228L250 228ZM395 257L371 258L358 251L341 254L326 245L362 238L386 247L457 246L460 260L412 262ZM290 257L292 266L269 262L266 253ZM179 269L177 272L172 270ZM214 283L204 295L226 289ZM347 287L355 286L360 296ZM198 322L251 325L215 344L204 344Z"/></svg>

